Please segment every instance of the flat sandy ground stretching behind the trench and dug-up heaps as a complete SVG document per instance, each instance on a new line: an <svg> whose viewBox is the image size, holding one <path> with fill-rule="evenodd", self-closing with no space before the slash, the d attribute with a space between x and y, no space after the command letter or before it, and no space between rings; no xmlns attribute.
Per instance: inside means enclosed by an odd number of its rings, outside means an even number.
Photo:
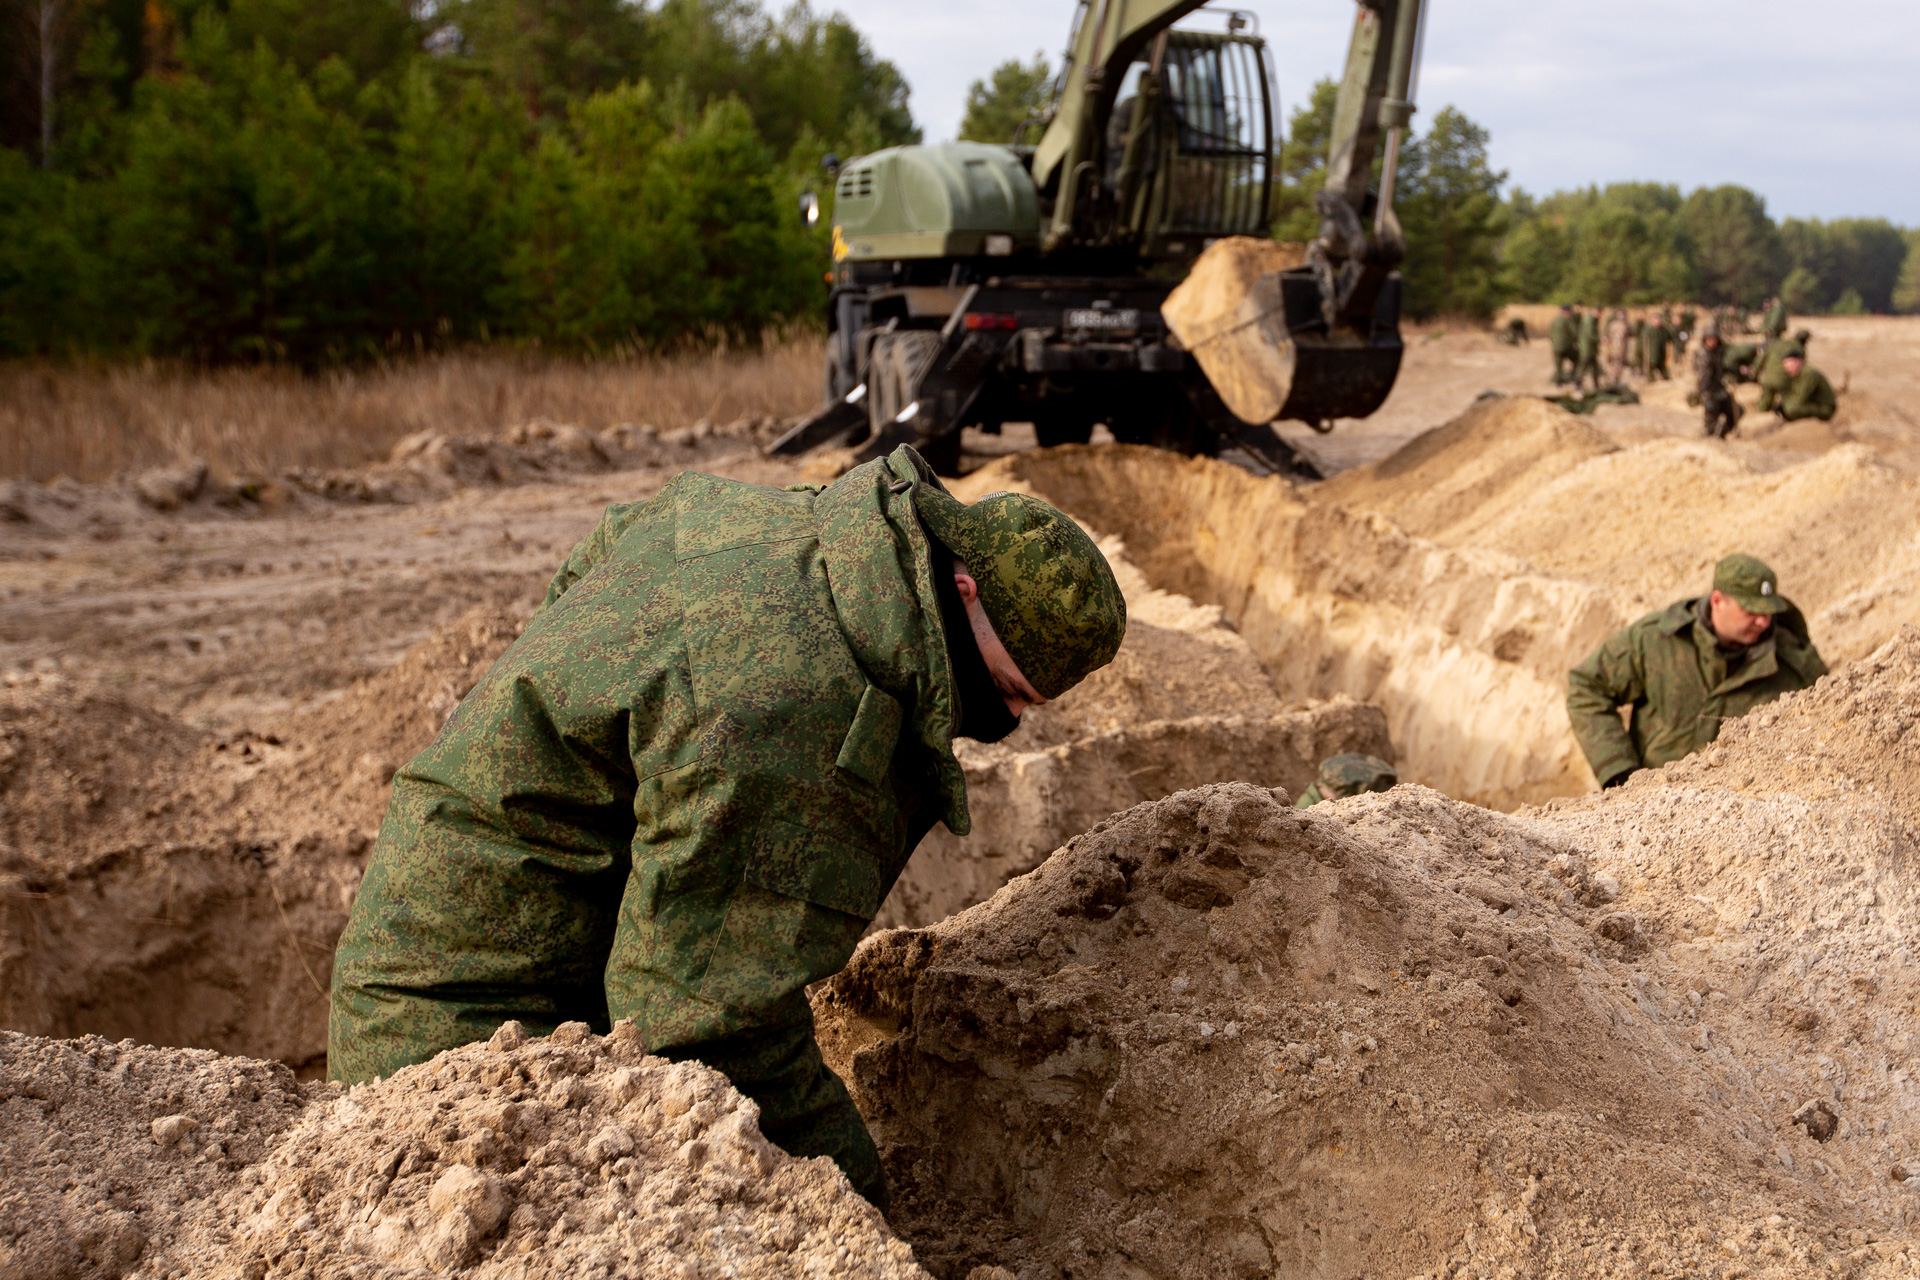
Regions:
<svg viewBox="0 0 1920 1280"><path fill-rule="evenodd" d="M1814 363L1836 386L1851 384L1839 420L1770 428L1749 416L1732 451L1774 468L1853 439L1920 472L1920 320L1805 324ZM1549 372L1540 340L1505 347L1482 332L1411 330L1379 415L1288 438L1329 468L1356 466L1453 418L1480 391L1551 391ZM1590 420L1620 443L1692 438L1697 416L1678 391L1657 384L1647 403L1603 405ZM1014 428L970 443L1002 451L1025 439ZM801 470L737 449L689 453L741 480L785 482ZM154 512L90 487L35 486L42 507L69 509L54 512L67 518L0 520L0 672L98 679L207 727L284 714L392 664L474 603L538 593L607 503L645 497L674 470L465 487L403 505L309 501L253 518L205 503Z"/></svg>

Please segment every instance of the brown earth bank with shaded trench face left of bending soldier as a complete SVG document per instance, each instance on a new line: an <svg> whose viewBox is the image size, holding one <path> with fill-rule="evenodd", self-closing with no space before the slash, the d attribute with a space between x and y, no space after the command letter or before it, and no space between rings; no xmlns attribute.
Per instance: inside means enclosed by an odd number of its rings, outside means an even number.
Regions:
<svg viewBox="0 0 1920 1280"><path fill-rule="evenodd" d="M60 677L0 687L0 1025L319 1067L394 770L518 635L474 610L273 731Z"/></svg>

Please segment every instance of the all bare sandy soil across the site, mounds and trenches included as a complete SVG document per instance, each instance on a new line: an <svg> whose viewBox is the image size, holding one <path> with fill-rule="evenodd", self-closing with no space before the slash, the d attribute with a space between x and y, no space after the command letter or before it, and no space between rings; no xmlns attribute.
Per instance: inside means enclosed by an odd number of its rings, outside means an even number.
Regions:
<svg viewBox="0 0 1920 1280"><path fill-rule="evenodd" d="M1544 344L1484 334L1302 436L1346 468L1319 486L970 434L960 491L1079 516L1135 628L962 745L975 835L929 839L881 917L910 927L816 992L920 1265L1912 1270L1920 324L1814 328L1841 416L1726 443L1667 386L1526 399ZM0 1036L0 1280L916 1274L837 1173L620 1034L351 1096L292 1071L324 1067L394 768L607 503L818 476L768 430L0 491L0 1025L33 1032ZM1588 794L1567 666L1736 549L1839 670ZM1288 806L1356 748L1415 785Z"/></svg>

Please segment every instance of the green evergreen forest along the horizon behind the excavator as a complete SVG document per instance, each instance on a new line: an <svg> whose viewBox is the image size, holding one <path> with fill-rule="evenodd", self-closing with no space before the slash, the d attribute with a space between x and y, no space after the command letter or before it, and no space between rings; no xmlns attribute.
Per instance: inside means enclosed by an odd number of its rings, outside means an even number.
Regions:
<svg viewBox="0 0 1920 1280"><path fill-rule="evenodd" d="M317 368L474 342L756 342L814 322L828 154L912 142L899 69L797 0L0 0L0 355ZM960 136L1044 109L1044 56ZM1284 129L1275 234L1311 238L1334 86ZM1031 136L1027 138L1031 140ZM1486 129L1404 152L1407 305L1920 311L1920 234L1740 186L1511 188Z"/></svg>

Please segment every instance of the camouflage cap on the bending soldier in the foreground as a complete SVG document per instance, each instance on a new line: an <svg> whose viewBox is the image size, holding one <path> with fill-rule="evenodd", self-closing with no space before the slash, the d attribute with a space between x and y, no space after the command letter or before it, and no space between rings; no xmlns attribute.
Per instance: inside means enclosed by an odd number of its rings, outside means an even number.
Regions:
<svg viewBox="0 0 1920 1280"><path fill-rule="evenodd" d="M1092 539L1027 493L972 507L922 484L914 509L979 583L995 635L1041 697L1058 699L1119 652L1127 601Z"/></svg>

